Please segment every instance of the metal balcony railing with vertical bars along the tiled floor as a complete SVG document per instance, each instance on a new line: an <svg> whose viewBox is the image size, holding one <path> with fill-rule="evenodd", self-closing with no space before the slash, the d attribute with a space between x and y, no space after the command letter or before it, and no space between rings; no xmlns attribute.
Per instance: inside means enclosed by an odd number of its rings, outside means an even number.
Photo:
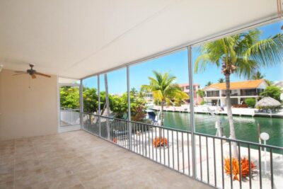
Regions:
<svg viewBox="0 0 283 189"><path fill-rule="evenodd" d="M192 134L190 131L88 113L82 113L82 117L86 132L215 188L279 188L282 184L282 147ZM230 159L233 143L238 150L236 160L241 162L245 157L248 170L253 170L246 172L245 176L242 173L247 171L247 167L233 164ZM227 166L238 170L238 173L227 173Z"/></svg>

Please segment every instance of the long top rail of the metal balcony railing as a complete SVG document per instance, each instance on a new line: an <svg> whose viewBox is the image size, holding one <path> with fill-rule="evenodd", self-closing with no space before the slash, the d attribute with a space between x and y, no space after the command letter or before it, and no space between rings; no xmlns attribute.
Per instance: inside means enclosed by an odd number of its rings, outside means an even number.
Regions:
<svg viewBox="0 0 283 189"><path fill-rule="evenodd" d="M92 113L83 113L83 114L95 115L95 114L92 114ZM100 116L101 118L110 118L110 117L103 116L103 115L95 115L95 116ZM144 122L134 122L134 121L129 121L129 120L123 120L123 119L120 119L120 118L110 118L110 119L121 120L121 121L125 121L125 122L132 122L132 123L135 123L135 124L142 124L142 125L147 125L147 126L150 126L150 127L158 127L158 128L177 131L177 132L192 133L191 131L187 131L187 130L178 130L178 129L174 129L174 128L171 128L171 127L161 127L161 126L158 126L158 125L152 125L152 124L144 123ZM255 142L248 142L248 141L243 141L243 140L240 140L240 139L229 139L229 138L224 138L224 137L216 137L216 136L213 136L213 135L210 135L210 134L204 134L204 133L200 133L200 132L194 132L194 133L196 135L200 135L200 136L203 136L203 137L211 137L211 138L214 138L214 139L224 139L224 140L227 140L227 141L230 141L230 142L239 142L241 144L250 144L250 145L258 146L258 147L266 147L266 148L271 148L271 149L283 150L283 147L275 147L275 146L271 146L271 145L268 145L268 144L258 144L258 143L255 143Z"/></svg>

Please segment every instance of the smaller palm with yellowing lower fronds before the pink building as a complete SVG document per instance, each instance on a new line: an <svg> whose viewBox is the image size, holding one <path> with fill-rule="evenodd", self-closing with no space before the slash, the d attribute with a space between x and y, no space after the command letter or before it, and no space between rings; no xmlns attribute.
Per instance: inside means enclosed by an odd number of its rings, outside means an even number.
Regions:
<svg viewBox="0 0 283 189"><path fill-rule="evenodd" d="M149 85L143 85L143 90L151 91L154 100L161 104L161 126L163 126L163 108L166 105L166 101L171 100L183 100L188 99L187 93L183 92L178 84L174 84L176 80L175 76L171 76L169 72L161 74L158 71L153 71L154 77L149 77Z"/></svg>

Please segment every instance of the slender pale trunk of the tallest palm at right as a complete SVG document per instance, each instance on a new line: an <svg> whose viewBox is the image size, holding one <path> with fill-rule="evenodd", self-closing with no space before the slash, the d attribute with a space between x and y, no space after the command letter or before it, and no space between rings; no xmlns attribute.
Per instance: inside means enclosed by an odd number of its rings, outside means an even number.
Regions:
<svg viewBox="0 0 283 189"><path fill-rule="evenodd" d="M226 79L226 105L227 105L227 115L230 125L230 138L236 139L235 134L235 127L233 122L233 114L231 109L231 97L230 97L230 74L225 75ZM232 156L235 158L238 158L238 150L237 150L237 144L236 142L232 142Z"/></svg>

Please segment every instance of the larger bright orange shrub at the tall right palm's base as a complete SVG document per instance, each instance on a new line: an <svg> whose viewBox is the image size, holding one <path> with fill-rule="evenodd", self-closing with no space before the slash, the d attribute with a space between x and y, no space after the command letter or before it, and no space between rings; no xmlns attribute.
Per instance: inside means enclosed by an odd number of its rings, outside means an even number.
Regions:
<svg viewBox="0 0 283 189"><path fill-rule="evenodd" d="M250 161L250 168L249 168L248 159L246 158L241 159L242 178L248 178L248 176L250 176L250 171L252 171L252 173L255 172L255 168L256 166L253 161ZM230 167L230 159L229 158L224 159L224 169L227 175L230 175L232 171L233 180L236 180L236 181L240 180L240 166L239 166L238 159L232 158L232 169L233 170L231 170L231 167Z"/></svg>

